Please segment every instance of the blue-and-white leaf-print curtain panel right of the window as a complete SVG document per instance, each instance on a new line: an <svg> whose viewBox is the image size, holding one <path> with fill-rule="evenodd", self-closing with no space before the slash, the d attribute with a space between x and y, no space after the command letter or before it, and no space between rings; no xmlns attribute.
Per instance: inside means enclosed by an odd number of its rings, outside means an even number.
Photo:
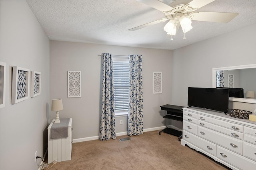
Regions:
<svg viewBox="0 0 256 170"><path fill-rule="evenodd" d="M142 56L130 55L128 135L143 134Z"/></svg>

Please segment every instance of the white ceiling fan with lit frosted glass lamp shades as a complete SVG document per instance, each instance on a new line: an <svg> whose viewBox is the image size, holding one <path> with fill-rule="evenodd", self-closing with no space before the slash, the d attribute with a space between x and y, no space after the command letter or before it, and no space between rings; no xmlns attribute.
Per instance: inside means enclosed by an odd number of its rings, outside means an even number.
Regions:
<svg viewBox="0 0 256 170"><path fill-rule="evenodd" d="M151 6L156 10L164 12L165 18L128 29L129 31L135 31L150 25L169 20L169 22L164 26L164 30L167 32L168 35L176 35L176 32L181 25L182 31L184 32L183 39L186 39L185 33L192 29L191 20L228 23L238 15L238 13L196 11L203 6L210 4L214 0L172 0L172 3L169 5L164 4L163 2L160 2L158 0L137 1ZM171 40L173 40L172 37Z"/></svg>

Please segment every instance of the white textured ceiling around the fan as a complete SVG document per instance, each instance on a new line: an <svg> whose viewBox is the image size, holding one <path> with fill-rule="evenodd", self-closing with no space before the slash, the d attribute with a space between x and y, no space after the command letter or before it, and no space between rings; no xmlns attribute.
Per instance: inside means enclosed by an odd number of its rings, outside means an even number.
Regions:
<svg viewBox="0 0 256 170"><path fill-rule="evenodd" d="M177 49L256 23L256 0L215 0L197 11L239 13L229 23L192 21L170 40L158 23L128 29L164 18L164 13L137 0L26 0L50 40ZM160 0L170 4L175 0ZM184 1L184 0L183 0Z"/></svg>

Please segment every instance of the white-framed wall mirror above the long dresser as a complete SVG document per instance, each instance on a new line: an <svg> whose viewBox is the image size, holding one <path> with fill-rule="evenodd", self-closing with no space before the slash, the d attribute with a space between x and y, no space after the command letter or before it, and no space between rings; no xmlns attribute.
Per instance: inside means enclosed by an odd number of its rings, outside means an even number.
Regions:
<svg viewBox="0 0 256 170"><path fill-rule="evenodd" d="M243 98L230 97L229 100L256 104L256 64L213 68L212 88L216 87L242 88Z"/></svg>

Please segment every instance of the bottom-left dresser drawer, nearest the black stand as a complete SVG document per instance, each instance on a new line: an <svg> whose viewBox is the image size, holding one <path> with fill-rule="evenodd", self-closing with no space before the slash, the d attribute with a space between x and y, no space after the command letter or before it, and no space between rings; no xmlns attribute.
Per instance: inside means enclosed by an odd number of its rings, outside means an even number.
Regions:
<svg viewBox="0 0 256 170"><path fill-rule="evenodd" d="M193 135L192 133L188 133L187 131L183 131L182 134L183 134L182 139L190 143L193 143L194 145L197 145L199 148L205 150L206 152L216 156L216 148L217 148L216 144L206 141L204 139L201 139L198 136Z"/></svg>

